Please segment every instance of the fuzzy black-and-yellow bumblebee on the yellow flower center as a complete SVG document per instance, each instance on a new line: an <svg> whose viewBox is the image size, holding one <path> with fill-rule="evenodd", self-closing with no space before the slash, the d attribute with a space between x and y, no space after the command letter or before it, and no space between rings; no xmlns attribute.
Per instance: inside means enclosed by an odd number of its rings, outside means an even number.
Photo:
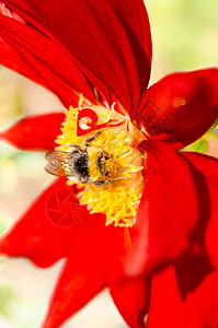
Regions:
<svg viewBox="0 0 218 328"><path fill-rule="evenodd" d="M95 136L88 138L84 145L70 144L70 148L66 152L47 152L45 159L48 163L45 166L45 171L55 176L69 177L77 184L92 183L95 186L103 186L108 183L126 178L116 176L107 179L107 176L114 172L116 157L106 153L104 150L91 147L91 142L101 132L97 132Z"/></svg>

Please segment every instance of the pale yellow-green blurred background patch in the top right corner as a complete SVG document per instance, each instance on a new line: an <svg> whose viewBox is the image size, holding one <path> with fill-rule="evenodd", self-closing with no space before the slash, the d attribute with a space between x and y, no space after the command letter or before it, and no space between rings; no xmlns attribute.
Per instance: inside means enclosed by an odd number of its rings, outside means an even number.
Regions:
<svg viewBox="0 0 218 328"><path fill-rule="evenodd" d="M145 0L145 3L151 22L153 63L158 69L169 73L218 65L217 0Z"/></svg>

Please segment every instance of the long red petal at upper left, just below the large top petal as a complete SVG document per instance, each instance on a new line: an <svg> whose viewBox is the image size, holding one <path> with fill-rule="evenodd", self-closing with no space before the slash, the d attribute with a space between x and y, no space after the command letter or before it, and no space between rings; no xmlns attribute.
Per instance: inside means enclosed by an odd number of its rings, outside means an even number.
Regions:
<svg viewBox="0 0 218 328"><path fill-rule="evenodd" d="M95 101L70 54L32 26L0 14L0 48L2 65L53 91L66 107L78 104L79 92Z"/></svg>

